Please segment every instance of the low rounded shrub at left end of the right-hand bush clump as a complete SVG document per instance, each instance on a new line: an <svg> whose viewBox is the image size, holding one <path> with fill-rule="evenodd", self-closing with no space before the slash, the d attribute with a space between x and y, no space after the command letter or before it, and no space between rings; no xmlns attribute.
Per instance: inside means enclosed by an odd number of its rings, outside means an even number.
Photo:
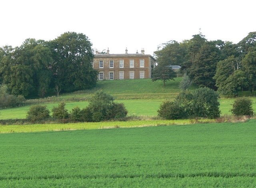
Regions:
<svg viewBox="0 0 256 188"><path fill-rule="evenodd" d="M163 102L158 112L158 116L165 119L183 119L186 118L185 109L177 102Z"/></svg>

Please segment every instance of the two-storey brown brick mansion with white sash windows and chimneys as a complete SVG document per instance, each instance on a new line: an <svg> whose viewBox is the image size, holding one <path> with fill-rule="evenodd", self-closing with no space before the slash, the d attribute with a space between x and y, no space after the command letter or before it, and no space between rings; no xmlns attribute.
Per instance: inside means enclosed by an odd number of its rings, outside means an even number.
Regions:
<svg viewBox="0 0 256 188"><path fill-rule="evenodd" d="M134 54L105 54L96 51L94 55L93 68L98 70L99 80L123 80L151 78L152 68L156 66L156 59L151 55L145 55L144 49L141 53Z"/></svg>

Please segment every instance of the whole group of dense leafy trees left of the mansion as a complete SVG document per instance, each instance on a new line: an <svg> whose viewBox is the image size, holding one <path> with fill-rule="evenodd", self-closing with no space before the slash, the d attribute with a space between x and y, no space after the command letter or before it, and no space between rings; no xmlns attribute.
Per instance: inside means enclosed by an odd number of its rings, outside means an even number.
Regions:
<svg viewBox="0 0 256 188"><path fill-rule="evenodd" d="M82 33L26 39L20 47L0 47L0 84L26 98L92 88L97 81L93 57L92 43Z"/></svg>

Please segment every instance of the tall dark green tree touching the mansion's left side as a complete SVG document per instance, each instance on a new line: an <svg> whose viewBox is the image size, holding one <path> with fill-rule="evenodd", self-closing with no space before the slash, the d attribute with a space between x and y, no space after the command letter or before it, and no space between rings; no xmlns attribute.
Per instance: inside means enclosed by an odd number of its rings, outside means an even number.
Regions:
<svg viewBox="0 0 256 188"><path fill-rule="evenodd" d="M92 43L86 35L67 32L50 41L49 45L54 59L51 65L54 85L60 86L63 91L95 86L98 74L92 68Z"/></svg>

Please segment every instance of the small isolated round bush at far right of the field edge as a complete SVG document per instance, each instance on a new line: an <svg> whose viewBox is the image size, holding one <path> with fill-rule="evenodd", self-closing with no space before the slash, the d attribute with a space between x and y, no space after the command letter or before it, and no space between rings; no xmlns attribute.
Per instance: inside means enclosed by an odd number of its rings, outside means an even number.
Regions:
<svg viewBox="0 0 256 188"><path fill-rule="evenodd" d="M252 116L252 100L250 98L238 98L232 104L230 111L235 116Z"/></svg>

